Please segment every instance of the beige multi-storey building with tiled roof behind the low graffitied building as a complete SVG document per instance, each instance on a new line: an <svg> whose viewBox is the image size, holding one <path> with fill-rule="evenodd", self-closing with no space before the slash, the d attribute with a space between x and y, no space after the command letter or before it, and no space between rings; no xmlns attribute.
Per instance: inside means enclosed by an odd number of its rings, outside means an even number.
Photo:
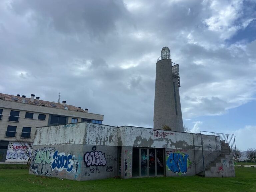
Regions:
<svg viewBox="0 0 256 192"><path fill-rule="evenodd" d="M88 109L67 105L66 101L0 93L0 162L26 162L24 148L32 150L36 127L102 121L103 115L88 113Z"/></svg>

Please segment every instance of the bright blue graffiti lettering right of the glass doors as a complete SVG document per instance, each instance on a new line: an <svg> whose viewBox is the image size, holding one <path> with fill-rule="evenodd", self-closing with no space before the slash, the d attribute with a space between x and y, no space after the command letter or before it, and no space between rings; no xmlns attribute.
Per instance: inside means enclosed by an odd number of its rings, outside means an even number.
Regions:
<svg viewBox="0 0 256 192"><path fill-rule="evenodd" d="M188 154L169 152L167 157L166 166L173 173L186 174L187 170L191 169L192 162L189 160Z"/></svg>

